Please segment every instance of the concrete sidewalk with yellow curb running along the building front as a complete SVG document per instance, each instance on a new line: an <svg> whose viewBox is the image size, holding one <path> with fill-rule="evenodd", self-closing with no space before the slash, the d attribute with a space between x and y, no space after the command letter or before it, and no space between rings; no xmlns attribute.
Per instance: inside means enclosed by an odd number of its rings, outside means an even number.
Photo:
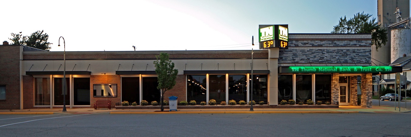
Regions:
<svg viewBox="0 0 411 137"><path fill-rule="evenodd" d="M159 109L134 109L134 110L94 110L93 108L76 108L67 109L62 112L58 109L25 109L25 110L0 110L0 114L217 114L217 113L404 113L411 112L405 108L394 110L389 106L373 106L372 108L363 108L360 106L339 106L339 108L259 108L253 112L247 109L178 109L177 112L159 112Z"/></svg>

